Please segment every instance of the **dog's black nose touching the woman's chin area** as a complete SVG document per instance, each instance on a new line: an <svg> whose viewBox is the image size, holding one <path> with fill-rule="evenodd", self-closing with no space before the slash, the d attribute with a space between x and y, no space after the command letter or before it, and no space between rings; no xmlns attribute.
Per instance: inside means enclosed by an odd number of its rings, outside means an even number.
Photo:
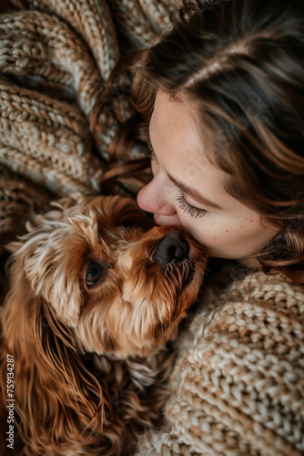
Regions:
<svg viewBox="0 0 304 456"><path fill-rule="evenodd" d="M189 249L190 246L184 234L173 230L160 240L153 259L159 264L178 263L187 258Z"/></svg>

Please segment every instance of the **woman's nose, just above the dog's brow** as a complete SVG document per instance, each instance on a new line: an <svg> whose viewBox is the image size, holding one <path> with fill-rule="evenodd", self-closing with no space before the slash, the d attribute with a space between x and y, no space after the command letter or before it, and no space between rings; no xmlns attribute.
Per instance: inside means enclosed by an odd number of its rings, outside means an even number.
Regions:
<svg viewBox="0 0 304 456"><path fill-rule="evenodd" d="M170 193L160 185L157 177L154 177L138 192L137 204L146 212L160 215L174 215L176 213L174 205L170 202Z"/></svg>

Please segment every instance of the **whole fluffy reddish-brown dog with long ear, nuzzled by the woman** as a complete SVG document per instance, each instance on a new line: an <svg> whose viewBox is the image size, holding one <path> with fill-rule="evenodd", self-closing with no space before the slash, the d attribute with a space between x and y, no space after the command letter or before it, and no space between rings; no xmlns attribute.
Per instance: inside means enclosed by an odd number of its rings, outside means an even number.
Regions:
<svg viewBox="0 0 304 456"><path fill-rule="evenodd" d="M146 223L132 200L78 195L10 244L0 389L5 403L9 355L31 454L120 454L162 406L172 360L159 366L157 347L177 335L206 258L186 233Z"/></svg>

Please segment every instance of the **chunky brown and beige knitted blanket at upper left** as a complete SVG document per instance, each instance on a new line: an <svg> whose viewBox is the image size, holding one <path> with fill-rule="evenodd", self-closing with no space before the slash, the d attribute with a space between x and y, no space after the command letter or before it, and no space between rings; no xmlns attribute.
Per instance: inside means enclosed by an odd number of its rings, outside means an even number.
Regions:
<svg viewBox="0 0 304 456"><path fill-rule="evenodd" d="M11 0L6 12L0 5L0 254L59 196L135 195L147 181L137 171L145 141L122 133L135 114L132 74L111 73L152 44L176 7L176 0ZM108 86L116 97L105 100ZM122 166L129 161L135 166Z"/></svg>

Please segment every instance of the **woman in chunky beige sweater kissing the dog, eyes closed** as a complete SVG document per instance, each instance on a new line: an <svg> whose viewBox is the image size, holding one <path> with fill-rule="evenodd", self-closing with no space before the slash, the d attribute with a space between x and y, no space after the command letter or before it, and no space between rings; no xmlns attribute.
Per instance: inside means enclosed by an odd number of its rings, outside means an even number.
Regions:
<svg viewBox="0 0 304 456"><path fill-rule="evenodd" d="M242 265L208 285L138 454L304 454L303 51L302 0L185 0L137 63L139 206Z"/></svg>

